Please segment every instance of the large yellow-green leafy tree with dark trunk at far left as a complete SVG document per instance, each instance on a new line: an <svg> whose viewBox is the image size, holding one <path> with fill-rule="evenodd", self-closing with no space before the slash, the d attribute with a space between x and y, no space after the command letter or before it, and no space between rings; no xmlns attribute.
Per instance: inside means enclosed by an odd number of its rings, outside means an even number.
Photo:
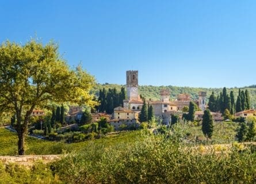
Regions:
<svg viewBox="0 0 256 184"><path fill-rule="evenodd" d="M25 45L6 41L0 45L0 109L16 114L18 154L24 155L29 118L49 101L95 105L90 89L93 76L80 66L71 69L60 58L55 43L31 40Z"/></svg>

